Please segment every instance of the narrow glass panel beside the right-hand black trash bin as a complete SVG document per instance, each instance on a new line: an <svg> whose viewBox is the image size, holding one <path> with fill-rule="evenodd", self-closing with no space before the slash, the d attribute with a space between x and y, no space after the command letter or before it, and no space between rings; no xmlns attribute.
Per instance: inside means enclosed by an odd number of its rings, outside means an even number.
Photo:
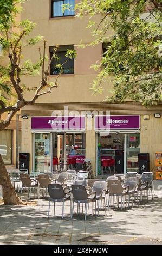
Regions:
<svg viewBox="0 0 162 256"><path fill-rule="evenodd" d="M140 134L126 135L126 172L138 172L138 154L140 153Z"/></svg>

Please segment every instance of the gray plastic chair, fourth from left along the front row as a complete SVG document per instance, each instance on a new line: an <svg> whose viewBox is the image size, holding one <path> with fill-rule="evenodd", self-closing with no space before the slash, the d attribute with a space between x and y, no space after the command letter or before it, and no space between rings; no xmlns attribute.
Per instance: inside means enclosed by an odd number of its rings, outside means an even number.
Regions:
<svg viewBox="0 0 162 256"><path fill-rule="evenodd" d="M119 197L121 196L121 210L122 210L122 203L123 197L126 197L128 194L129 186L122 187L120 180L109 180L108 181L108 188L109 188L109 197L114 196L118 197L118 206L119 206ZM113 200L114 205L114 200ZM128 197L128 207L129 207L129 197ZM109 209L109 200L108 200L108 209Z"/></svg>

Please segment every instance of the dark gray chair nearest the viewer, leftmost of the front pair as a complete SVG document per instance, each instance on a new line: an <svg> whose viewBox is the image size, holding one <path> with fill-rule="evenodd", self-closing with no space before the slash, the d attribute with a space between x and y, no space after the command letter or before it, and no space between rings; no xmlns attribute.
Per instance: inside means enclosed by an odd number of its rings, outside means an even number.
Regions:
<svg viewBox="0 0 162 256"><path fill-rule="evenodd" d="M48 218L49 218L49 212L50 212L50 202L54 202L54 216L55 216L55 202L62 202L62 218L63 218L64 202L70 201L69 192L70 190L68 192L65 192L61 184L51 183L48 185L48 193L49 193Z"/></svg>

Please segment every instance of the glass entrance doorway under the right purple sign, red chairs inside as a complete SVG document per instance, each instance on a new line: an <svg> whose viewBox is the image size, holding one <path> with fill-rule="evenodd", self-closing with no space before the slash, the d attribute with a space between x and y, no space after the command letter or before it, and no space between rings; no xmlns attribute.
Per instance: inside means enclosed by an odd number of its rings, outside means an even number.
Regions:
<svg viewBox="0 0 162 256"><path fill-rule="evenodd" d="M140 152L139 133L98 133L97 135L97 173L138 172L138 153ZM110 161L111 160L111 161Z"/></svg>

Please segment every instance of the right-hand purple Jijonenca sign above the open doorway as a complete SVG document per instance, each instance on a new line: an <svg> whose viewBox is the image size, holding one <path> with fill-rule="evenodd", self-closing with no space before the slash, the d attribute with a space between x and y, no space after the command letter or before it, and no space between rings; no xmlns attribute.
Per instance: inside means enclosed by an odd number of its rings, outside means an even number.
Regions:
<svg viewBox="0 0 162 256"><path fill-rule="evenodd" d="M139 129L139 115L96 116L95 129Z"/></svg>

